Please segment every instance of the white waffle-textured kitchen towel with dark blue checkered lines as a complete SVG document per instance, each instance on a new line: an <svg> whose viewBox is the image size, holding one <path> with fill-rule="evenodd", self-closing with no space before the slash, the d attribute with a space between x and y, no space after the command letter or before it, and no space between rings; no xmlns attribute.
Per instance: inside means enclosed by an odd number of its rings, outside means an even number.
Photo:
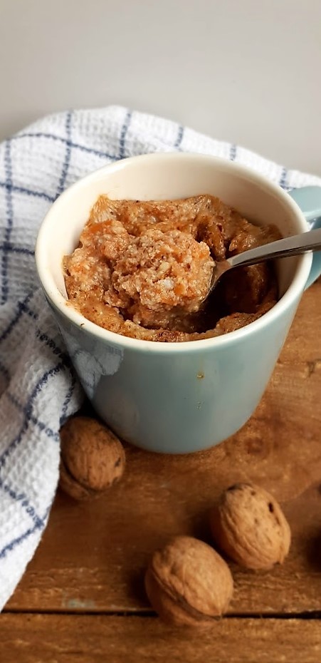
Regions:
<svg viewBox="0 0 321 663"><path fill-rule="evenodd" d="M48 522L58 431L83 399L38 287L38 227L65 187L95 168L176 150L238 161L285 188L321 184L236 145L118 106L51 115L0 144L0 609Z"/></svg>

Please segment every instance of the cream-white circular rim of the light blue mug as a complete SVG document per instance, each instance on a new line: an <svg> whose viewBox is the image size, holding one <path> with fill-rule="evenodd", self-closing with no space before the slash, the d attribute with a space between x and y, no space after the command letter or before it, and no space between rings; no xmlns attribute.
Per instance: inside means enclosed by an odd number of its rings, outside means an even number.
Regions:
<svg viewBox="0 0 321 663"><path fill-rule="evenodd" d="M53 215L56 215L56 209L57 207L59 207L60 201L65 200L65 198L69 197L70 195L77 194L78 190L90 184L91 182L95 182L95 180L101 178L101 176L104 173L109 173L110 171L115 172L117 170L122 170L122 168L130 166L132 165L132 163L139 163L142 161L149 161L155 159L173 160L173 161L177 160L178 162L180 160L190 160L193 162L199 161L202 163L206 163L207 161L208 163L219 165L219 167L221 168L223 167L227 170L231 169L234 172L239 173L240 175L241 174L246 175L246 178L248 180L252 180L253 183L265 187L265 189L270 190L271 193L273 193L277 197L280 197L283 200L283 202L285 202L285 205L287 205L290 208L290 211L297 218L299 218L302 225L302 231L304 232L305 230L308 230L307 221L305 220L305 217L302 211L300 210L300 207L293 200L293 198L291 198L290 195L288 195L288 193L285 192L285 190L283 190L280 186L271 182L270 180L265 178L264 175L261 175L261 173L257 173L256 170L253 170L252 168L249 168L246 165L235 163L228 159L216 157L213 155L204 155L198 153L177 153L177 152L149 153L149 154L137 155L117 160L115 162L108 163L102 166L102 168L94 170L92 173L89 173L89 175L85 175L85 177L77 180L73 185L70 185L70 187L68 187L68 189L66 189L55 200L55 202L53 202L48 212L46 213L45 217L43 218L43 221L41 222L41 226L38 230L38 235L36 239L35 259L36 259L36 269L38 272L38 277L40 279L41 286L43 287L43 291L45 292L48 301L53 305L54 309L56 309L63 317L68 319L68 321L72 323L75 327L77 327L79 331L90 334L90 336L95 337L95 339L100 339L100 341L103 341L105 344L112 344L113 346L120 346L124 349L132 349L135 351L142 351L142 352L153 351L156 353L167 354L173 352L175 353L176 352L181 353L186 351L190 352L192 350L201 351L202 349L209 349L211 347L213 347L213 349L216 347L219 348L221 346L226 346L230 343L233 343L233 341L240 341L243 338L245 339L247 336L251 336L251 334L255 334L256 332L259 332L263 327L273 323L273 321L278 318L279 314L281 314L283 310L290 307L291 304L293 304L293 302L295 301L295 299L298 296L300 296L300 294L302 293L311 269L311 264L312 264L311 253L305 253L304 255L301 255L298 258L299 264L297 269L295 270L295 275L290 283L290 286L285 291L283 296L280 297L280 299L278 299L278 302L276 302L276 304L274 304L274 306L268 312L263 314L263 316L261 316L257 320L247 324L245 327L236 329L233 332L228 332L227 334L212 336L209 339L199 339L195 341L172 341L172 342L147 341L143 339L135 339L131 338L130 336L123 336L122 334L117 334L116 332L110 332L109 329L104 329L102 327L99 327L98 324L91 322L90 320L88 320L88 318L85 318L83 314L78 312L72 306L68 305L69 300L65 299L65 297L63 297L63 294L60 293L53 279L53 275L49 271L48 267L46 268L46 264L44 264L44 257L46 255L46 247L48 242L47 230L51 222L51 217Z"/></svg>

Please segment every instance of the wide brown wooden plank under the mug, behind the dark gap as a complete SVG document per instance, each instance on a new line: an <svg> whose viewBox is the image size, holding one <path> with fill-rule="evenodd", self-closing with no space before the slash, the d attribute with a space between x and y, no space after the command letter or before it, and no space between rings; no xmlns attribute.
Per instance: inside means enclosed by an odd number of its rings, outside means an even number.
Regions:
<svg viewBox="0 0 321 663"><path fill-rule="evenodd" d="M149 555L179 533L209 540L207 512L219 491L251 478L289 500L321 477L321 282L300 312L265 397L242 431L191 456L127 448L120 485L94 503L57 495L35 557L9 610L148 610L142 577ZM285 504L293 547L283 567L233 567L231 610L321 610L321 494Z"/></svg>

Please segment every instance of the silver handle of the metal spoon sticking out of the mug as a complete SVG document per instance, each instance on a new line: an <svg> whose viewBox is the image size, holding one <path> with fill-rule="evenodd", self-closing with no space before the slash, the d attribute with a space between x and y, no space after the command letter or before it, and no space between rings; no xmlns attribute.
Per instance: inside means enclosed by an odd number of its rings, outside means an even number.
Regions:
<svg viewBox="0 0 321 663"><path fill-rule="evenodd" d="M243 253L228 258L227 262L229 262L231 267L237 267L239 264L246 266L248 264L263 262L269 258L299 255L300 253L305 253L310 250L321 250L321 228L302 232L301 235L285 237L283 240L277 240L276 242L270 242L270 244L259 246L256 249L244 251Z"/></svg>

